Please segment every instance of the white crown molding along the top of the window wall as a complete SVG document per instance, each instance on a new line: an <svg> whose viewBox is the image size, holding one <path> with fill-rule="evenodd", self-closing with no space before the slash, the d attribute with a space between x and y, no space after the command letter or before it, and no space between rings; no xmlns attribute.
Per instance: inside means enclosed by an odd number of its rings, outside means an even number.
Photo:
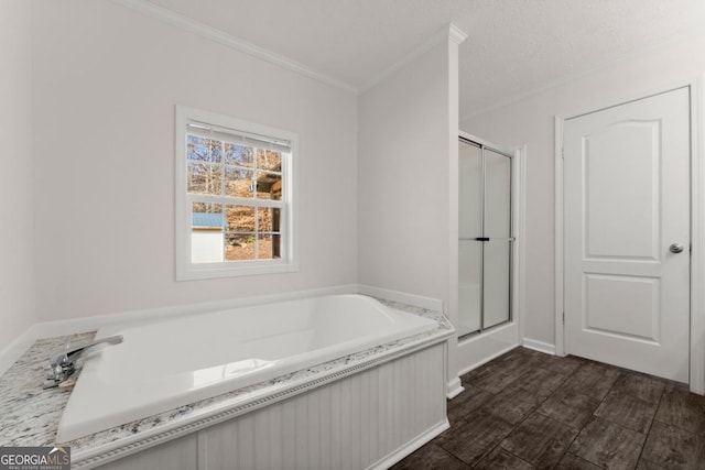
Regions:
<svg viewBox="0 0 705 470"><path fill-rule="evenodd" d="M197 34L206 40L214 41L250 56L260 58L271 64L279 65L280 67L295 72L296 74L303 75L305 77L313 78L314 80L333 86L340 90L355 95L357 95L358 92L357 87L346 81L322 74L296 61L292 61L289 57L284 57L283 55L276 54L264 47L260 47L256 44L228 34L225 31L200 23L199 21L156 6L147 0L112 0L112 2L135 10L144 15L152 17L173 26L177 26L184 31Z"/></svg>

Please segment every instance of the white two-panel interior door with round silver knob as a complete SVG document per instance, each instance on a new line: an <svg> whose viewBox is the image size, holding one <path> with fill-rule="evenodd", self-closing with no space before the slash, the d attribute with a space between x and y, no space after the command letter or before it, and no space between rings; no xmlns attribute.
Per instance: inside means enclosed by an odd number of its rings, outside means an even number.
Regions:
<svg viewBox="0 0 705 470"><path fill-rule="evenodd" d="M565 121L565 352L688 382L690 142L687 87Z"/></svg>

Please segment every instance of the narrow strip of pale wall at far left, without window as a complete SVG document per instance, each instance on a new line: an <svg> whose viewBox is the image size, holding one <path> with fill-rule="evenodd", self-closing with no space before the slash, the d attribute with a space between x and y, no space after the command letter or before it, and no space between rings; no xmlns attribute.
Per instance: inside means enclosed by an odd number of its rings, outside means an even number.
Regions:
<svg viewBox="0 0 705 470"><path fill-rule="evenodd" d="M31 2L0 1L0 350L34 318Z"/></svg>

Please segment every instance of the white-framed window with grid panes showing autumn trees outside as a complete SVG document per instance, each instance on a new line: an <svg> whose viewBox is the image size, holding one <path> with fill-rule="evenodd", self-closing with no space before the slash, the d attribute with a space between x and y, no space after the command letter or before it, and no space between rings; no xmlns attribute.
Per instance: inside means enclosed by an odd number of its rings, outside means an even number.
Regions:
<svg viewBox="0 0 705 470"><path fill-rule="evenodd" d="M176 278L296 270L296 134L176 107Z"/></svg>

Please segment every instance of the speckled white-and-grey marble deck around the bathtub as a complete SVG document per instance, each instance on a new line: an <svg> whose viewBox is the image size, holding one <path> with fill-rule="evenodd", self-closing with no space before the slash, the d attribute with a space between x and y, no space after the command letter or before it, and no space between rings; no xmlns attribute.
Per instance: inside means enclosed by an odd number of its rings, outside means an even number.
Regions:
<svg viewBox="0 0 705 470"><path fill-rule="evenodd" d="M243 406L262 396L280 393L308 380L365 364L402 351L414 345L448 337L454 329L442 313L405 304L379 299L399 310L421 315L437 321L438 327L397 341L367 349L333 361L278 376L212 398L202 400L169 412L106 429L69 442L55 442L58 422L70 395L70 389L42 389L47 359L65 347L66 337L37 340L0 378L0 446L44 446L64 444L72 447L75 462L108 449L139 440L142 435L155 435L218 414L224 409ZM95 331L70 336L72 345L87 343Z"/></svg>

